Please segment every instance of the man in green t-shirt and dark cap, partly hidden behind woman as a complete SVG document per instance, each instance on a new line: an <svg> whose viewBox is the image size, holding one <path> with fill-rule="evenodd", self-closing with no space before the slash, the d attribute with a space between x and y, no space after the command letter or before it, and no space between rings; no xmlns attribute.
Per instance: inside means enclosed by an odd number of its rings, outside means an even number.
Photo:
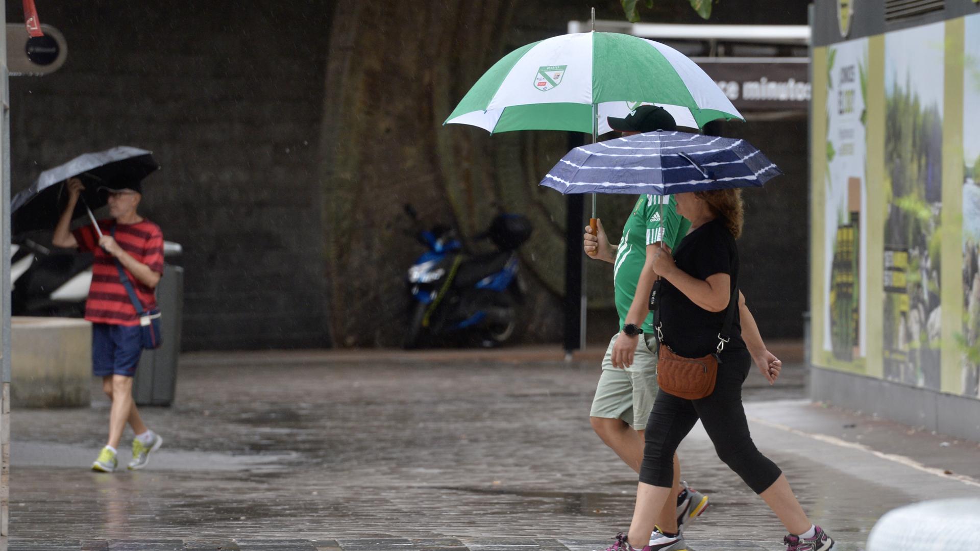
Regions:
<svg viewBox="0 0 980 551"><path fill-rule="evenodd" d="M624 119L609 118L623 135L654 130L676 130L673 117L662 107L644 105ZM622 228L618 245L609 242L602 222L594 234L586 227L585 252L613 265L615 307L619 332L610 340L602 376L592 402L593 429L616 455L639 473L643 461L647 418L657 396L657 338L649 298L657 274L654 253L662 244L677 248L691 223L677 214L672 196L641 195ZM680 481L680 465L674 456L674 495L658 519L662 532L676 533L708 506L708 496ZM676 549L686 548L678 540ZM673 546L671 546L673 549Z"/></svg>

